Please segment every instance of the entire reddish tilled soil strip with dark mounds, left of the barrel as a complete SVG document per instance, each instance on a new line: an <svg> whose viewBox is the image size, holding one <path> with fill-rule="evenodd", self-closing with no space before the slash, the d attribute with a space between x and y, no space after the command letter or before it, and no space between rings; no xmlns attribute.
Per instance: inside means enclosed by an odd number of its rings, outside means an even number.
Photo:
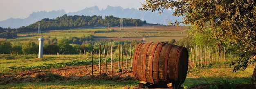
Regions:
<svg viewBox="0 0 256 89"><path fill-rule="evenodd" d="M48 82L48 81L86 81L86 80L103 80L103 81L127 81L135 80L131 70L117 72L117 62L113 63L113 73L111 73L110 64L108 64L108 71L106 74L105 65L101 65L101 74L99 72L98 64L93 67L94 72L92 75L92 65L84 66L69 66L58 69L40 69L40 70L26 70L20 72L13 72L13 74L0 74L0 85L8 83L37 83L37 82ZM15 73L15 74L14 74Z"/></svg>

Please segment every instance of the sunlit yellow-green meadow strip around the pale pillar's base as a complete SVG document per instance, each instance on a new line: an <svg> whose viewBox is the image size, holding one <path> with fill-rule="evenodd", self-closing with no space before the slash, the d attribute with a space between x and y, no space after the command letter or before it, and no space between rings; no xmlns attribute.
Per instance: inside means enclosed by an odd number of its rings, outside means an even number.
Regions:
<svg viewBox="0 0 256 89"><path fill-rule="evenodd" d="M38 59L38 55L0 55L0 68L10 66L38 66L43 63L60 63L70 60L84 60L83 55L44 55L43 59Z"/></svg>

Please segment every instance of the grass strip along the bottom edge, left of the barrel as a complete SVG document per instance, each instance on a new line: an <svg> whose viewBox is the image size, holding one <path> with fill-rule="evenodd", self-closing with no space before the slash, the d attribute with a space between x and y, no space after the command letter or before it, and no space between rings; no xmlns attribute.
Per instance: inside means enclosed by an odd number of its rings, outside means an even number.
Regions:
<svg viewBox="0 0 256 89"><path fill-rule="evenodd" d="M124 89L133 87L138 81L51 81L47 83L20 83L1 85L0 89Z"/></svg>

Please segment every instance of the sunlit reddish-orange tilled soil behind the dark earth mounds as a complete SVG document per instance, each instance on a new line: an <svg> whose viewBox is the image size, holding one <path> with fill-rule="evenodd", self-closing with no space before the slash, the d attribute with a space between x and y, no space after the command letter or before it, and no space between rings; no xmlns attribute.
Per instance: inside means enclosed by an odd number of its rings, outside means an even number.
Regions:
<svg viewBox="0 0 256 89"><path fill-rule="evenodd" d="M125 64L126 62L124 62ZM124 65L124 71L123 72L117 72L117 66L118 62L113 63L113 73L111 73L111 66L108 64L108 76L133 76L132 71L126 70L126 66ZM93 66L93 74L94 75L100 75L99 73L99 65L95 64ZM68 66L58 69L39 69L39 70L26 70L26 71L20 71L20 72L13 72L13 74L0 74L0 78L12 76L12 77L25 77L25 76L31 76L35 77L37 74L44 74L45 72L51 72L53 74L59 74L61 76L89 76L91 75L92 71L92 65L84 65L84 66ZM15 73L15 74L14 74ZM106 73L105 64L101 65L101 73Z"/></svg>

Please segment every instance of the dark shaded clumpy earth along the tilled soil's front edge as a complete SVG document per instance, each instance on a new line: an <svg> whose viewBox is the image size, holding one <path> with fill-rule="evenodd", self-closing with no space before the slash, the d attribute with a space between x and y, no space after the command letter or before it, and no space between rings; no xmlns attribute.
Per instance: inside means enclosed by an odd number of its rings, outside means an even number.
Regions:
<svg viewBox="0 0 256 89"><path fill-rule="evenodd" d="M36 74L35 77L26 76L26 77L13 77L7 76L0 78L0 85L6 85L8 83L38 83L38 82L49 82L49 81L87 81L87 80L103 80L103 81L128 81L128 80L135 80L135 78L131 76L121 77L121 76L108 76L107 74L103 73L101 75L90 75L90 76L61 76L59 74L52 74L52 73L44 73L44 74Z"/></svg>

